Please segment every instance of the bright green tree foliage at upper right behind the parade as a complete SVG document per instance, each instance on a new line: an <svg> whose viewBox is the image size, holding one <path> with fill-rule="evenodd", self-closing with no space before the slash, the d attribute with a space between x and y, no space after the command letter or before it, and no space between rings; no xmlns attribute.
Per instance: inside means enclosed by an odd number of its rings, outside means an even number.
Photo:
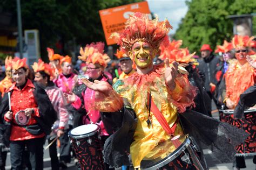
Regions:
<svg viewBox="0 0 256 170"><path fill-rule="evenodd" d="M215 48L224 39L231 40L233 20L227 16L253 13L256 9L255 0L191 0L186 4L188 11L174 38L182 39L183 46L191 52L198 52L203 44ZM256 27L256 18L253 25Z"/></svg>

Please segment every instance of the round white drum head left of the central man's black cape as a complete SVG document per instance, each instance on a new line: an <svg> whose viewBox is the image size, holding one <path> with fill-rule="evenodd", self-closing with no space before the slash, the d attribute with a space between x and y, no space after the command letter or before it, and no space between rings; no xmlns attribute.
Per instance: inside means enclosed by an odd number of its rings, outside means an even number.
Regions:
<svg viewBox="0 0 256 170"><path fill-rule="evenodd" d="M99 130L99 125L97 125L97 124L87 124L87 125L78 126L77 128L72 129L70 131L69 135L70 136L83 136L85 134L89 135L90 133L97 132L98 130Z"/></svg>

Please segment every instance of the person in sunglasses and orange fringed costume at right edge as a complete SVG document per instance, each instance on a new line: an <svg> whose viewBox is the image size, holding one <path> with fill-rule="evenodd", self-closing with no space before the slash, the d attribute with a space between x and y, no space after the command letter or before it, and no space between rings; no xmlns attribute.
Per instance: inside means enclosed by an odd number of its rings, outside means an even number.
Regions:
<svg viewBox="0 0 256 170"><path fill-rule="evenodd" d="M226 72L226 97L224 103L228 109L234 109L239 101L239 96L255 83L253 67L247 62L248 48L252 45L253 37L235 35L232 39L235 48L235 58L237 61L232 63ZM245 168L244 157L236 157L233 167Z"/></svg>

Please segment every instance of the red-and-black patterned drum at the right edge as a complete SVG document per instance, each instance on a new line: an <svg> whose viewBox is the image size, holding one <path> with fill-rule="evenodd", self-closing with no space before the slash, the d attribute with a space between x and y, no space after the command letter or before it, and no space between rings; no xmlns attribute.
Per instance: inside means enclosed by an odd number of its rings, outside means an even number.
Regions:
<svg viewBox="0 0 256 170"><path fill-rule="evenodd" d="M250 108L245 110L244 118L242 119L234 119L234 110L228 109L223 111L225 122L239 128L243 129L247 133L250 134L248 138L244 141L244 143L235 147L237 150L236 156L248 156L248 155L256 155L256 140L255 140L255 117L256 117L256 108Z"/></svg>

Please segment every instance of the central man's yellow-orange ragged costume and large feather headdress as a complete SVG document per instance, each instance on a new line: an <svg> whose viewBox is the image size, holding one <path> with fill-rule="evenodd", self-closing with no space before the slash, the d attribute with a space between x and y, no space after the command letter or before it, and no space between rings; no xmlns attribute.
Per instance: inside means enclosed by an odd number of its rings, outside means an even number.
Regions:
<svg viewBox="0 0 256 170"><path fill-rule="evenodd" d="M154 20L142 13L136 12L126 22L126 29L122 33L114 33L111 37L117 40L120 49L127 53L137 41L148 42L153 49L158 49L160 45L168 45L167 33L172 28L167 20L158 22L158 17ZM100 111L119 110L124 101L130 103L138 118L130 146L132 163L135 168L140 167L142 160L163 159L169 155L176 146L172 143L172 137L160 125L154 114L151 112L152 126L149 128L147 119L149 118L146 107L147 92L151 92L152 101L163 114L170 128L176 125L174 136L180 135L180 143L185 140L184 132L177 122L177 111L183 112L186 107L194 104L193 98L196 96L196 88L190 85L186 74L178 74L176 77L176 88L171 91L165 83L165 67L154 66L148 74L138 74L137 72L124 80L117 80L113 85L116 91L110 91L109 96L104 101L96 103L95 107ZM107 101L109 99L109 101ZM120 104L121 103L121 104ZM108 108L110 110L108 110Z"/></svg>

